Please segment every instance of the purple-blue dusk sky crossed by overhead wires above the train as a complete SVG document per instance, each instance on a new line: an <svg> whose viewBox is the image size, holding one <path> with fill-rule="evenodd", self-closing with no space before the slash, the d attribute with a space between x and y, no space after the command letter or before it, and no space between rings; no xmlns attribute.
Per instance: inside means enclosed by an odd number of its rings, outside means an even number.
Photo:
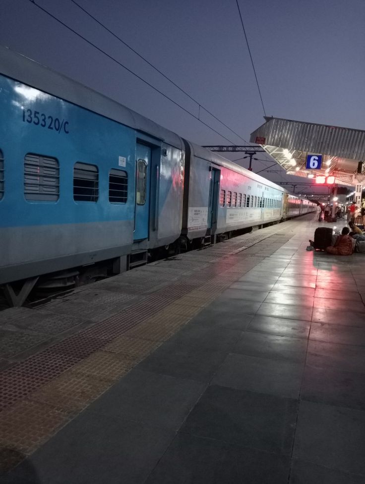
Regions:
<svg viewBox="0 0 365 484"><path fill-rule="evenodd" d="M196 100L201 105L200 119L228 139L37 6L199 116L198 104L75 2ZM200 145L244 144L243 140L248 141L250 133L264 122L236 0L35 3L0 0L2 46L79 81ZM365 129L364 0L239 0L239 5L266 115ZM240 156L243 155L228 155L232 160ZM269 160L266 155L258 158ZM247 160L239 163L248 166ZM255 161L254 171L269 164ZM274 182L293 180L285 172L260 174Z"/></svg>

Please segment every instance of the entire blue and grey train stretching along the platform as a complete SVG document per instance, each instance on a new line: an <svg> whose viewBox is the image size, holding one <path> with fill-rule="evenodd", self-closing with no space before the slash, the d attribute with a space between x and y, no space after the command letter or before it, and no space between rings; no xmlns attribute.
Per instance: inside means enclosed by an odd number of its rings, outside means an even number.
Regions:
<svg viewBox="0 0 365 484"><path fill-rule="evenodd" d="M71 287L315 205L0 47L0 287Z"/></svg>

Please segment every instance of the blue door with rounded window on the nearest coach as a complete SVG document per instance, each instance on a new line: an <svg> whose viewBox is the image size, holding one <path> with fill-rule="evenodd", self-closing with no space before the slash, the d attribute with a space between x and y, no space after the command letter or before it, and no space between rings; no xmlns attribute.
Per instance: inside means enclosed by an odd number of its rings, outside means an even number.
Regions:
<svg viewBox="0 0 365 484"><path fill-rule="evenodd" d="M136 182L133 241L149 236L151 148L136 145Z"/></svg>

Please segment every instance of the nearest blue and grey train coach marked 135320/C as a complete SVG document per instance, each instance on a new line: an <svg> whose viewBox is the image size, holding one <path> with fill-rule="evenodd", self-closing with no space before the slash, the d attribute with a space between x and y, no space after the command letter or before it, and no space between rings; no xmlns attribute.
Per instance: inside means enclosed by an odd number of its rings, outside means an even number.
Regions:
<svg viewBox="0 0 365 484"><path fill-rule="evenodd" d="M0 48L0 284L13 304L41 274L67 285L65 269L118 273L173 244L183 168L176 134Z"/></svg>

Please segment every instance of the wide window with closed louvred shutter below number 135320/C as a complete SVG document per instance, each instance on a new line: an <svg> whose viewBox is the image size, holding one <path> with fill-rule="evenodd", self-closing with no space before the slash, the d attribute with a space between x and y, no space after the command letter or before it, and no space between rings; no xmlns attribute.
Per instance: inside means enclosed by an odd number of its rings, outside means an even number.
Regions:
<svg viewBox="0 0 365 484"><path fill-rule="evenodd" d="M60 198L60 166L56 158L25 155L24 198L37 202L56 202Z"/></svg>

